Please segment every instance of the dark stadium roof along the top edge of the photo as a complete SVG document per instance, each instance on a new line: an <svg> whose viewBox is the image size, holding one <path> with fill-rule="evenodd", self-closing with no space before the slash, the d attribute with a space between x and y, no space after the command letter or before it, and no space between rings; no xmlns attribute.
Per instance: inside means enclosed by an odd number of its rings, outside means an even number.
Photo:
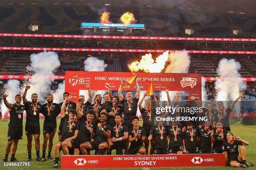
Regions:
<svg viewBox="0 0 256 170"><path fill-rule="evenodd" d="M0 0L0 6L6 5L178 7L187 10L256 15L255 0Z"/></svg>

